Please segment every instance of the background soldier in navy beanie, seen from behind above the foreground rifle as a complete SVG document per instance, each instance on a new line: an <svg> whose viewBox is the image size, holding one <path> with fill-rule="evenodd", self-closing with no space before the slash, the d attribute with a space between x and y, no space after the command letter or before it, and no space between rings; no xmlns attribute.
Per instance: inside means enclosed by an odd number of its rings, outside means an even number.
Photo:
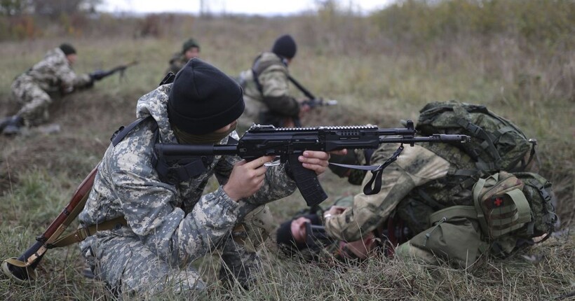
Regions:
<svg viewBox="0 0 575 301"><path fill-rule="evenodd" d="M251 69L240 74L245 101L245 112L240 118L243 127L252 123L293 127L309 111L308 105L290 95L288 66L296 52L294 38L283 34L269 52L255 58Z"/></svg>

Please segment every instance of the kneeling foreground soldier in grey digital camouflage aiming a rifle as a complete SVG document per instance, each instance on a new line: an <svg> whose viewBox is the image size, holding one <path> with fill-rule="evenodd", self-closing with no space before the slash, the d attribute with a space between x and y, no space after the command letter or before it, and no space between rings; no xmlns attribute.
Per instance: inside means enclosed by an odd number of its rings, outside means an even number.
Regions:
<svg viewBox="0 0 575 301"><path fill-rule="evenodd" d="M116 134L79 215L83 227L126 220L81 242L95 276L123 294L203 289L189 263L217 249L220 280L243 287L255 281L257 247L272 228L266 204L296 189L285 165L264 166L272 156L250 162L236 155L166 159L154 147L227 144L239 138L235 127L243 109L241 87L197 58L173 83L140 97L141 119ZM306 151L299 160L321 174L329 157ZM205 193L212 176L219 186Z"/></svg>

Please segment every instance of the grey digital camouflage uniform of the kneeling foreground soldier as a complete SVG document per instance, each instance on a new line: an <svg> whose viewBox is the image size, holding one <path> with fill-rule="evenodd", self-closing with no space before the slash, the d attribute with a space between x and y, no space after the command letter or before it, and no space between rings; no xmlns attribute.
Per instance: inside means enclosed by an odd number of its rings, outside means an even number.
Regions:
<svg viewBox="0 0 575 301"><path fill-rule="evenodd" d="M137 103L137 117L153 116L158 140L163 143L177 143L166 111L171 87L172 84L162 85ZM255 195L234 202L222 186L234 163L241 159L216 156L200 176L175 186L163 183L151 165L156 143L153 126L152 121L141 123L115 147L109 146L102 158L79 220L87 226L123 216L128 226L119 225L88 237L81 243L82 254L96 276L112 288L189 290L205 286L190 263L220 248L222 260L229 268L223 265L221 278L229 277L226 272L231 271L240 283L248 284L249 269L257 258L249 247L259 241L238 242L257 238L269 230L269 211L261 205L290 195L295 182L285 174L283 166L270 167L264 186ZM238 138L236 132L230 136ZM212 175L220 186L202 195ZM234 228L237 225L245 231Z"/></svg>

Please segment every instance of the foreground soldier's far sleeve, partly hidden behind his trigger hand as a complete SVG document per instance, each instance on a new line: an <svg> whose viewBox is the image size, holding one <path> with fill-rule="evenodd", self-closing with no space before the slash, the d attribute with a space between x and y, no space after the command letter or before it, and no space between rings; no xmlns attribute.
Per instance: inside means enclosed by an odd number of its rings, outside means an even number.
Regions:
<svg viewBox="0 0 575 301"><path fill-rule="evenodd" d="M226 156L224 160L218 163L215 175L220 185L224 185L228 181L231 169L234 168L234 164L239 160L241 158L237 156ZM295 181L290 179L285 173L285 165L268 167L264 186L259 188L255 195L245 199L245 202L256 205L267 204L291 195L294 193L295 188Z"/></svg>

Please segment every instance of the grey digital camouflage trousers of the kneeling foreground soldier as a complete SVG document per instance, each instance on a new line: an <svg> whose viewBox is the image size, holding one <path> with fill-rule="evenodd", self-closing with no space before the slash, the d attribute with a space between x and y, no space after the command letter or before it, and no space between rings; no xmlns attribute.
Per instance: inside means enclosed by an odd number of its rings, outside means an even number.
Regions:
<svg viewBox="0 0 575 301"><path fill-rule="evenodd" d="M264 205L245 216L226 237L214 241L211 252L219 251L222 267L219 279L243 287L255 281L259 270L257 248L271 232L273 221ZM158 293L201 290L206 284L191 262L166 262L145 246L130 228L97 232L81 243L82 255L95 276L116 292ZM208 254L193 254L200 258ZM190 260L191 261L191 260Z"/></svg>

